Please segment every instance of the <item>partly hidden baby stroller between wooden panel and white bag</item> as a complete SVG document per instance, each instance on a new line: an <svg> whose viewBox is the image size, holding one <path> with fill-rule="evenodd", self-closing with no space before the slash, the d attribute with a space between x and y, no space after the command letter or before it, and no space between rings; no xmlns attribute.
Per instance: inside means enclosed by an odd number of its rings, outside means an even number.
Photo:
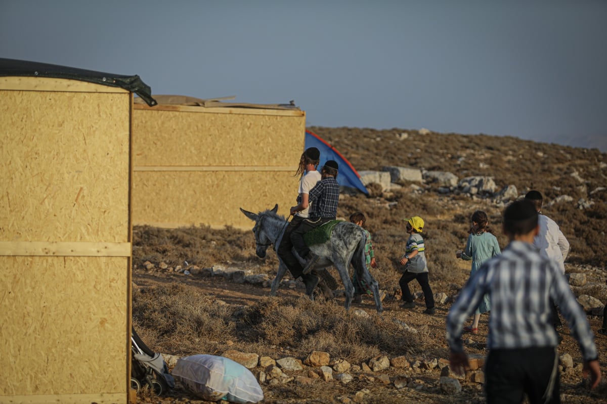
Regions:
<svg viewBox="0 0 607 404"><path fill-rule="evenodd" d="M175 379L162 355L155 353L143 343L135 328L131 334L131 388L139 391L147 387L157 396L175 387Z"/></svg>

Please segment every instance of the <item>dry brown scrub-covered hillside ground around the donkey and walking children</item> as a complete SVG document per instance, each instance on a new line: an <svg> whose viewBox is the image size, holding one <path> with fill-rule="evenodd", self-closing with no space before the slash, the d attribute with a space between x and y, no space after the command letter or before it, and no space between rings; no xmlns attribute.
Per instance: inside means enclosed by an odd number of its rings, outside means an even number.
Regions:
<svg viewBox="0 0 607 404"><path fill-rule="evenodd" d="M452 172L459 178L490 176L499 188L514 185L519 194L531 188L541 190L547 201L569 195L571 202L554 203L544 212L560 224L571 243L566 271L582 272L588 278L585 286L572 287L574 294L589 294L603 303L607 301L605 153L486 135L421 135L416 130L347 127L309 129L333 144L358 170L418 167ZM274 360L305 360L317 350L353 365L348 371L353 376L349 383L317 380L317 369L309 366L302 371L285 371L288 377L280 380L266 379L260 383L264 403L483 402L481 383L462 382L461 392L444 394L439 385L439 366L427 364L448 356L444 318L469 275L469 263L456 260L455 251L466 243L470 214L476 209L485 210L504 247L506 239L498 231L503 204L466 194L440 194L432 184L400 185L389 192L371 186L369 197L344 194L340 199L342 217L356 210L367 215L367 228L379 263L373 275L380 288L387 291L381 316L375 314L368 298L350 312L344 311L339 294L331 301L319 298L311 302L302 297L301 285L288 278L283 280L277 297L268 297L267 283L236 283L202 275L204 268L223 267L272 278L277 268L276 254L269 251L264 260L257 258L250 231L141 226L134 229L135 328L152 349L177 357L221 355L236 349ZM435 315L422 314L422 298L416 300L415 309L399 308L397 260L406 239L402 219L411 215L426 220L424 239L430 283L435 293L448 296L444 305L437 306ZM188 262L187 268L184 261ZM185 275L184 269L191 269L192 274ZM415 292L420 291L415 282L411 286ZM361 309L368 317L356 314ZM588 320L596 330L602 318L588 315ZM486 332L487 318L483 317L480 334L466 337L470 354L486 354ZM566 327L563 336L559 351L570 354L577 365L579 350ZM607 338L597 336L597 346L606 372ZM371 359L382 355L390 359L406 357L411 366L390 366L381 372L365 370ZM259 376L264 369L257 366L252 371ZM607 386L603 383L599 389L588 391L583 387L579 369L569 369L561 375L561 393L563 402L602 403ZM168 397L143 393L140 400L164 404L202 402L183 386Z"/></svg>

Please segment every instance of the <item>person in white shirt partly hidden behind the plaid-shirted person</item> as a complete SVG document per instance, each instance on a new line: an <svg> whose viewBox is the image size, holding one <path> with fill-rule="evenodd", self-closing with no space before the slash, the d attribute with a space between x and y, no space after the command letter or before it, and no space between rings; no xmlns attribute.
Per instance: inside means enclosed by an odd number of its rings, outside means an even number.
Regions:
<svg viewBox="0 0 607 404"><path fill-rule="evenodd" d="M561 232L558 224L541 213L541 205L544 202L544 198L540 191L530 190L525 195L525 199L534 204L538 213L539 232L534 238L534 247L540 251L542 257L551 258L556 261L561 274L565 275L565 258L567 258L567 254L569 253L569 241L567 241L565 235ZM552 304L552 323L557 330L563 325L560 317L558 317L557 307L554 303ZM562 339L562 337L559 339Z"/></svg>

